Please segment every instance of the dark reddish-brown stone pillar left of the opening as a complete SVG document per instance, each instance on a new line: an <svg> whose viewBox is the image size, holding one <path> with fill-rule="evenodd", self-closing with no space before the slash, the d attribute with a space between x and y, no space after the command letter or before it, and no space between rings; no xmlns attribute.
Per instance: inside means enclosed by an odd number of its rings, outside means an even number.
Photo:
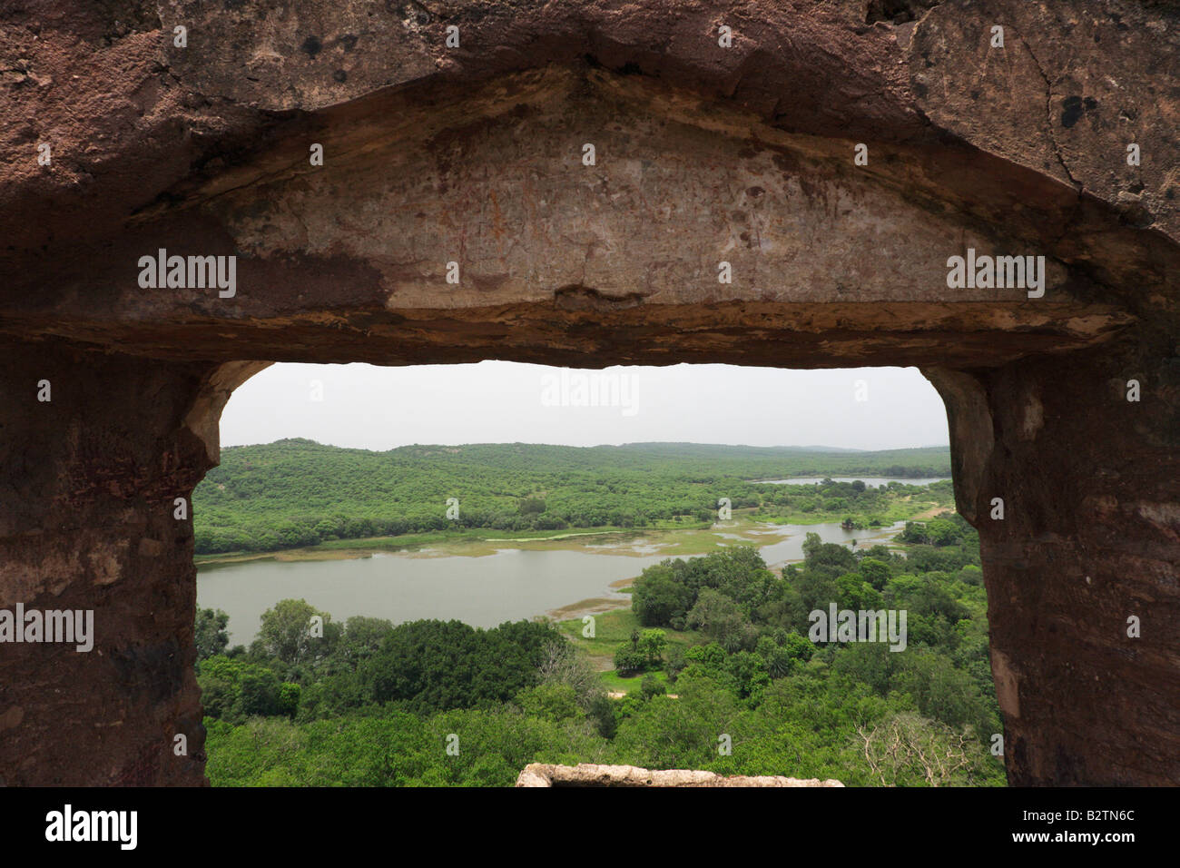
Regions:
<svg viewBox="0 0 1180 868"><path fill-rule="evenodd" d="M0 783L199 784L196 568L173 501L210 466L184 425L202 366L2 353L6 402L28 407L0 418L0 608L90 609L94 625L88 651L0 646Z"/></svg>

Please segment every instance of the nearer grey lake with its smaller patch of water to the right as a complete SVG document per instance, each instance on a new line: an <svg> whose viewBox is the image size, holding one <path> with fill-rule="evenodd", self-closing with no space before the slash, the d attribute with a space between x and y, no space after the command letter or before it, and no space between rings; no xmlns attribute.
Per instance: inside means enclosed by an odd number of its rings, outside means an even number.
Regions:
<svg viewBox="0 0 1180 868"><path fill-rule="evenodd" d="M867 481L866 481L867 484ZM898 522L876 530L845 530L830 524L765 524L747 533L786 540L760 546L771 566L801 561L808 531L825 542L886 542L905 527ZM733 542L749 542L726 534ZM601 540L601 537L599 537ZM386 618L394 624L421 618L458 619L476 627L494 627L544 615L591 598L630 596L610 587L632 579L645 567L669 557L645 541L582 544L575 549L504 549L483 556L379 552L372 556L329 561L250 561L197 570L197 606L229 615L230 645L248 645L258 618L280 600L303 599L342 621L352 615ZM754 542L758 544L758 542ZM620 552L642 552L641 556ZM651 552L653 554L645 554Z"/></svg>

